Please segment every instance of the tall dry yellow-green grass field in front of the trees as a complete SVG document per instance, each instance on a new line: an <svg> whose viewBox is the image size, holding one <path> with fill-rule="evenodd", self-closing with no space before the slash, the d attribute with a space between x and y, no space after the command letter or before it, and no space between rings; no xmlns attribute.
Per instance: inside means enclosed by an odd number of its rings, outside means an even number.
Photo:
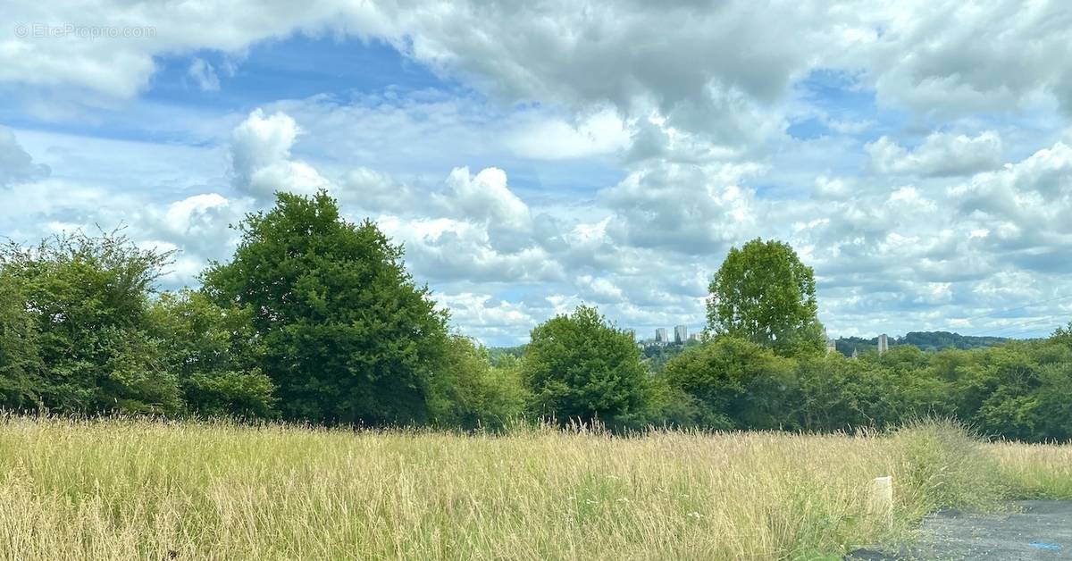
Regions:
<svg viewBox="0 0 1072 561"><path fill-rule="evenodd" d="M867 486L893 475L893 523ZM507 437L0 418L2 559L836 559L1072 493L1072 448L890 434Z"/></svg>

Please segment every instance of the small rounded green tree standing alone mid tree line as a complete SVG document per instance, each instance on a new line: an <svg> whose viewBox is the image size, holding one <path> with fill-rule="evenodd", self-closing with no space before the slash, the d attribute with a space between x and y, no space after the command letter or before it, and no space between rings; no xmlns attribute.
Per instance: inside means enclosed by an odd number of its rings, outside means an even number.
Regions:
<svg viewBox="0 0 1072 561"><path fill-rule="evenodd" d="M645 420L649 383L632 337L580 306L532 330L522 375L533 411L570 420L636 426Z"/></svg>

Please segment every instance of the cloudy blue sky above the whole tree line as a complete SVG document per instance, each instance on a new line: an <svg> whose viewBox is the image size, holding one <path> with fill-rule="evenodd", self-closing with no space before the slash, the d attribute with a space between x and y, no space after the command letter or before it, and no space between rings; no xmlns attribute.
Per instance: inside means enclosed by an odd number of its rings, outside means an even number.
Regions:
<svg viewBox="0 0 1072 561"><path fill-rule="evenodd" d="M405 248L462 334L704 325L789 242L833 337L1072 320L1072 6L245 0L0 8L0 236L124 227L195 286L276 191Z"/></svg>

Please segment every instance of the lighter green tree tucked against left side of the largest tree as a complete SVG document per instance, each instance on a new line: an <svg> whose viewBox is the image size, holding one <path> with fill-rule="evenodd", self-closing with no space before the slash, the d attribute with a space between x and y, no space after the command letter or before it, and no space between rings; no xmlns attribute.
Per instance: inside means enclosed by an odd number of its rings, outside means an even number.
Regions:
<svg viewBox="0 0 1072 561"><path fill-rule="evenodd" d="M203 293L166 293L152 307L163 360L187 409L203 415L271 417L276 389L260 371L264 354L249 307L222 308Z"/></svg>

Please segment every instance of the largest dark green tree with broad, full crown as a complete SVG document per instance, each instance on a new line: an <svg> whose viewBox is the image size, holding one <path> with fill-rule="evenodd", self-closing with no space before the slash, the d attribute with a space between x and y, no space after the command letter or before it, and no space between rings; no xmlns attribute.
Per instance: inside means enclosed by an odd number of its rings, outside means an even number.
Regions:
<svg viewBox="0 0 1072 561"><path fill-rule="evenodd" d="M211 264L204 290L224 308L252 310L284 417L426 422L447 315L406 272L402 248L371 221L343 220L325 192L279 193L239 230L234 257Z"/></svg>

